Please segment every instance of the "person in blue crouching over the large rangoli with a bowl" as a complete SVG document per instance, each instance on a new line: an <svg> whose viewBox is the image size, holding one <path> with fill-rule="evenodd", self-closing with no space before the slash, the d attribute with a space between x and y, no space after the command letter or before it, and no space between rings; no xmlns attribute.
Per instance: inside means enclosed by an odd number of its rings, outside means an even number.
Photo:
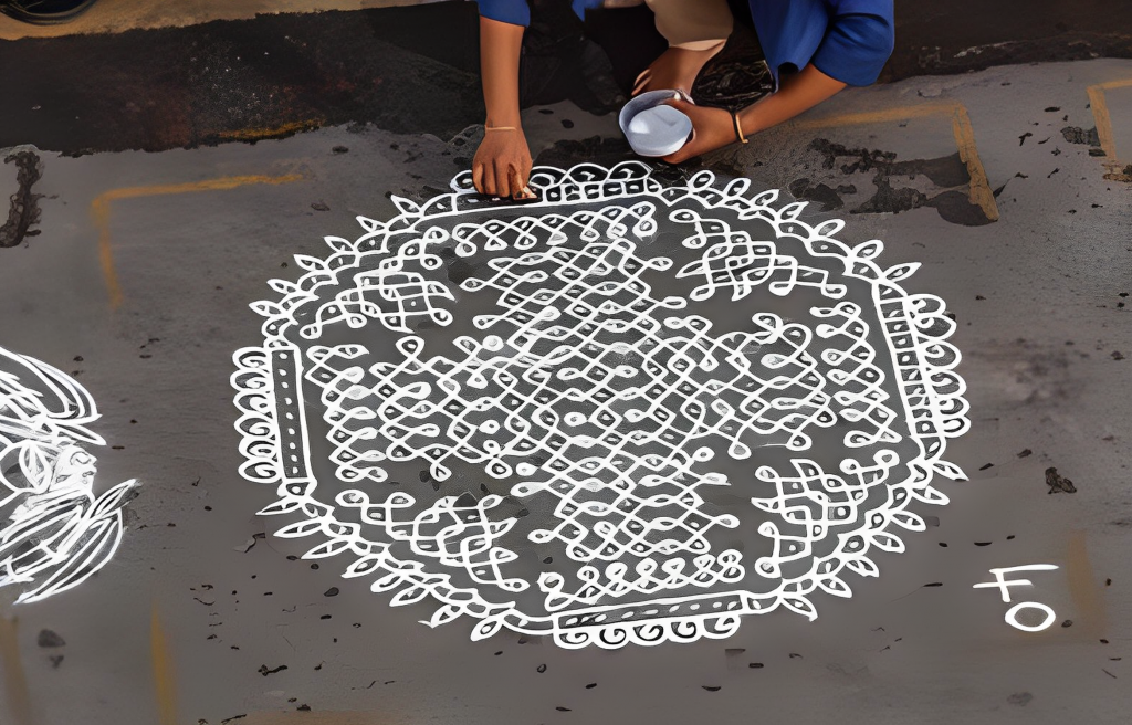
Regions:
<svg viewBox="0 0 1132 725"><path fill-rule="evenodd" d="M487 120L483 141L472 162L472 178L483 193L520 196L526 185L531 153L520 118L523 35L531 23L531 6L552 2L479 0ZM648 3L669 48L641 74L633 92L664 88L687 94L700 70L722 50L731 33L727 0ZM892 54L893 0L749 3L775 92L737 112L674 100L672 105L692 119L693 135L664 161L679 163L728 144L745 144L748 137L812 109L846 86L873 84ZM581 17L588 8L601 5L602 0L573 0L573 14Z"/></svg>

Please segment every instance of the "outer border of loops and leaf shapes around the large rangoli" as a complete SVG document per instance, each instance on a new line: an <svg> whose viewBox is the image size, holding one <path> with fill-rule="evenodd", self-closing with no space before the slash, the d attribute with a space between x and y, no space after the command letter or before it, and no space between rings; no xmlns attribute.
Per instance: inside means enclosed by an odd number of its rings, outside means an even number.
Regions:
<svg viewBox="0 0 1132 725"><path fill-rule="evenodd" d="M899 483L887 484L887 502L869 511L861 529L839 535L841 541L837 550L816 561L807 576L783 581L766 594L732 592L529 618L509 605L492 605L482 599L477 603L472 601L474 597L469 596L474 594L474 589L454 587L448 584L447 575L426 572L420 564L396 560L381 545L361 540L358 525L336 521L333 507L310 495L316 482L306 473L306 458L309 456L307 437L305 430L293 428L295 424L305 425L302 406L300 404L295 408L292 404L288 408L276 399L278 380L283 379L280 376L290 374L293 376L290 379L299 380L302 372L301 355L289 354L291 351L298 353L298 348L284 337L289 322L293 323L290 311L315 299L312 290L323 282L334 279L335 270L353 266L363 245L372 250L376 241L389 233L411 231L440 216L483 208L484 202L474 196L470 173L464 172L453 180L452 192L439 195L422 205L393 197L400 214L387 223L359 216L358 221L366 231L362 236L354 242L326 238L333 253L325 260L295 256L295 261L306 274L297 283L271 280L268 284L283 295L282 300L251 304L252 310L266 318L263 323L265 344L239 349L233 355L237 372L231 381L237 390L235 406L241 413L235 428L241 435L240 451L246 459L240 474L255 483L277 484L278 500L259 511L260 515L302 512L307 517L305 521L276 532L276 535L288 537L317 535L321 543L307 552L305 559L333 556L349 551L357 559L345 570L344 577L383 575L370 589L395 592L392 601L395 606L431 595L439 601L440 607L424 623L435 627L460 615L473 616L481 620L473 627L473 640L490 637L504 627L530 635L551 633L558 645L567 648L590 644L616 648L631 642L655 645L692 641L701 637L720 639L738 629L741 615L765 614L779 606L815 619L817 611L809 599L814 590L849 596L851 592L840 578L842 569L875 577L880 570L867 555L869 549L903 551L901 540L885 530L890 525L924 530L923 519L904 511L911 501L947 503L947 498L932 487L933 474L966 480L959 466L943 459L946 440L962 435L970 428L966 417L969 404L962 397L966 386L952 372L960 354L945 342L954 331L955 323L944 316L945 308L940 297L912 295L900 285L919 268L918 262L884 269L874 261L884 249L881 241L872 240L850 248L833 239L844 227L843 221L829 219L812 226L799 218L806 202L775 208L771 205L778 200L778 190L748 196L751 181L747 179L736 179L719 188L715 175L709 171L698 172L686 183L666 185L653 178L649 166L635 161L611 169L597 164L581 164L569 170L540 166L532 172L530 185L540 192L541 200L526 208L592 204L642 195L655 196L668 202L691 197L707 209L727 208L736 212L740 219L767 222L779 239L800 241L814 257L839 258L846 276L872 284L873 302L883 323L894 370L900 377L899 388L909 437L920 450L916 459L904 463L911 475ZM289 362L281 364L281 360ZM301 386L299 388L301 391ZM300 420L284 420L284 416L291 417L288 409L300 413ZM281 425L281 422L284 424ZM298 450L291 448L290 460L284 460L282 451L286 450L289 440L301 441L301 445ZM849 540L858 537L858 549L849 552ZM823 563L823 570L817 571ZM668 606L662 616L657 616L658 604Z"/></svg>

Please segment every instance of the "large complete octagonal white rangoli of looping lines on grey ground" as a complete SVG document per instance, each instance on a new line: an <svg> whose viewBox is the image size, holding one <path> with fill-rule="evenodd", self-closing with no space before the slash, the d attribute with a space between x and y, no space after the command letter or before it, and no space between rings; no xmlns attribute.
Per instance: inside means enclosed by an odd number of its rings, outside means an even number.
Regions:
<svg viewBox="0 0 1132 725"><path fill-rule="evenodd" d="M394 198L252 305L241 473L277 486L276 535L431 598L434 625L619 647L813 619L902 551L890 529L924 529L912 501L946 502L968 406L943 302L899 284L918 265L743 179L628 162L531 185Z"/></svg>

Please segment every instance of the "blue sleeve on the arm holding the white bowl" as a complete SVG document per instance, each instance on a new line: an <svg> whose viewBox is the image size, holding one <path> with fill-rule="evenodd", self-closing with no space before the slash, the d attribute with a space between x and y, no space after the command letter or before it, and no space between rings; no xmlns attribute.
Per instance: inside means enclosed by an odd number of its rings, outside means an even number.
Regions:
<svg viewBox="0 0 1132 725"><path fill-rule="evenodd" d="M893 0L826 0L830 24L811 61L850 86L876 83L895 43Z"/></svg>

